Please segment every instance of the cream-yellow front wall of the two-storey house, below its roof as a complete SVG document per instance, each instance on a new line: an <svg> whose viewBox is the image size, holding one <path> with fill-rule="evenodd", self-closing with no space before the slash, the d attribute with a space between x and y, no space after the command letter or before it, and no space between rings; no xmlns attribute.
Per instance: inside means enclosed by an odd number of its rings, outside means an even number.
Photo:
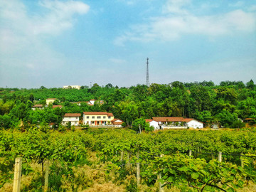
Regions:
<svg viewBox="0 0 256 192"><path fill-rule="evenodd" d="M83 123L90 126L111 124L110 121L113 119L113 116L107 116L107 114L83 114Z"/></svg>

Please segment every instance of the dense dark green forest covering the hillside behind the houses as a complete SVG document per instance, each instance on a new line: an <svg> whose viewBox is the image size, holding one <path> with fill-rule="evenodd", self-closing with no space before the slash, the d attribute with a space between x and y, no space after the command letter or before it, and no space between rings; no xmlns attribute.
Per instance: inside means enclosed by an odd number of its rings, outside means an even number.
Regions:
<svg viewBox="0 0 256 192"><path fill-rule="evenodd" d="M46 104L47 98L57 98L53 105L62 108L45 107L31 110L35 104ZM87 105L85 101L103 100ZM75 102L82 102L77 105ZM92 87L82 86L80 90L63 88L38 89L0 88L0 127L9 129L23 123L49 124L58 127L63 114L87 111L112 112L127 126L139 118L190 117L204 123L205 127L219 124L222 127L244 127L242 120L256 118L256 86L250 80L223 81L215 85L212 81L171 82L169 85L153 83L149 87L137 85L117 87L112 84Z"/></svg>

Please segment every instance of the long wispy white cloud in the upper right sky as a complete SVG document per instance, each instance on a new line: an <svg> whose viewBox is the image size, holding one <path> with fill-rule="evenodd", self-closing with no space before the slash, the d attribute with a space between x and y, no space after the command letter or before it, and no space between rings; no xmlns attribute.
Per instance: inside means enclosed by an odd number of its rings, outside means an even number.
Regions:
<svg viewBox="0 0 256 192"><path fill-rule="evenodd" d="M169 0L164 8L164 15L149 18L149 23L132 26L114 43L122 46L126 41L174 41L184 34L200 34L209 38L251 33L256 30L256 14L240 9L224 14L196 16L186 6L189 0Z"/></svg>

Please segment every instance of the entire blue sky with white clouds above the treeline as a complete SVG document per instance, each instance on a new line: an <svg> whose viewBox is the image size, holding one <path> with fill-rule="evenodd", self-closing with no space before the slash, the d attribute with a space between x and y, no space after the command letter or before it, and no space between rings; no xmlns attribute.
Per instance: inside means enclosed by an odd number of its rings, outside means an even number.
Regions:
<svg viewBox="0 0 256 192"><path fill-rule="evenodd" d="M256 83L256 0L0 0L0 87Z"/></svg>

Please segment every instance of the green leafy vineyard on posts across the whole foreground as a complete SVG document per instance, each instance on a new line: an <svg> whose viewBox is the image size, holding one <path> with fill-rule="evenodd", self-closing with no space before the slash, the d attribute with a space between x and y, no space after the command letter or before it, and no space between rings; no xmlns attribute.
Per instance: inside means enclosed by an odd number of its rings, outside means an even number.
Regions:
<svg viewBox="0 0 256 192"><path fill-rule="evenodd" d="M1 131L0 191L16 157L21 191L254 191L256 131Z"/></svg>

